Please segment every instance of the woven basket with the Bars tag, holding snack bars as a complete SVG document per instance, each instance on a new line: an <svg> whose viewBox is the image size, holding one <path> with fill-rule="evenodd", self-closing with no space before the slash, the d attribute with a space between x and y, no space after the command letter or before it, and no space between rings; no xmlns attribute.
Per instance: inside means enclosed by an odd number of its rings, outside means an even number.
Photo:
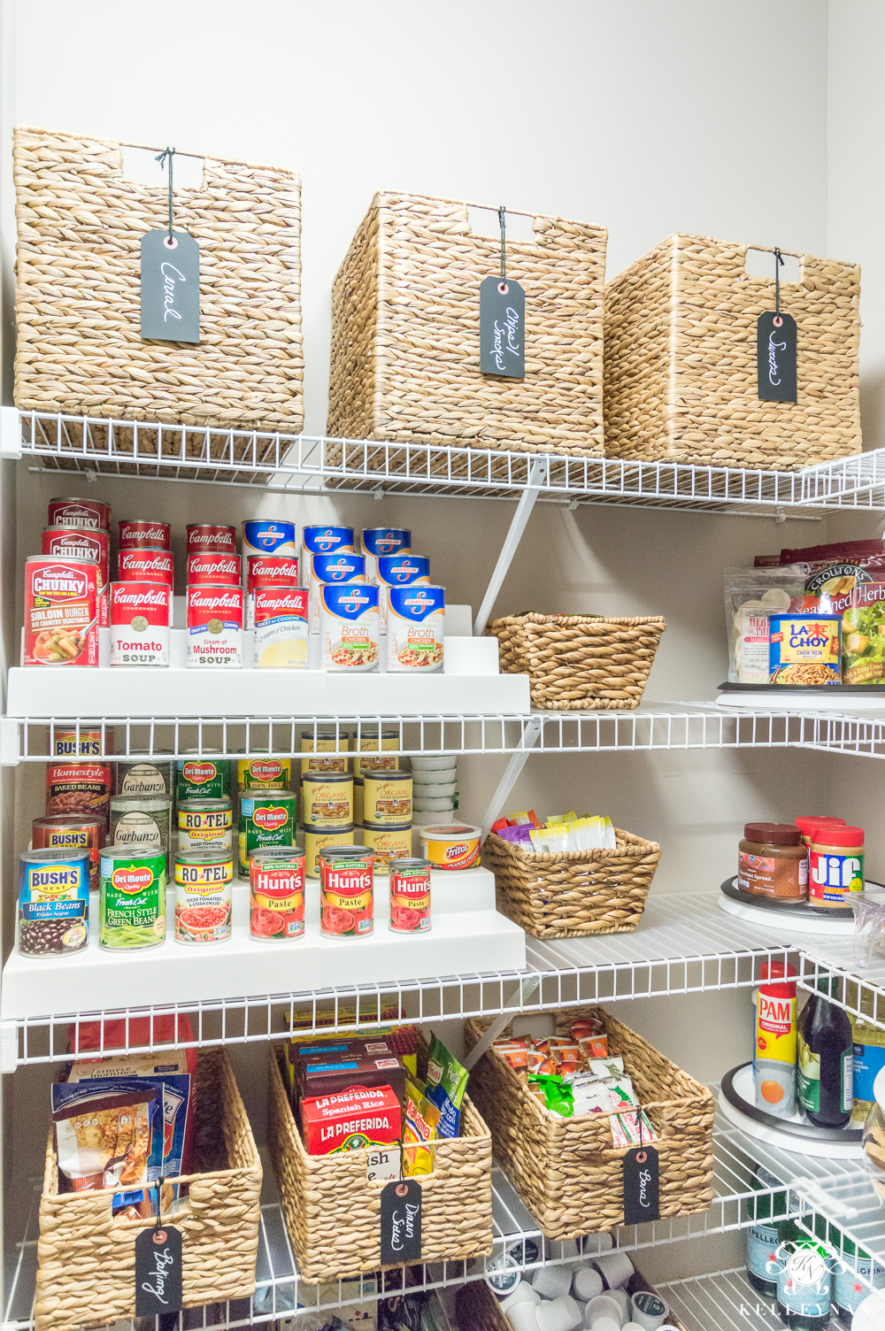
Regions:
<svg viewBox="0 0 885 1331"><path fill-rule="evenodd" d="M571 1022L588 1014L602 1018L610 1053L623 1054L624 1069L660 1138L655 1150L661 1218L705 1211L713 1197L711 1091L602 1008L558 1012L556 1033L568 1034ZM484 1020L464 1024L467 1049L488 1025ZM542 1234L568 1239L624 1223L627 1147L612 1146L610 1114L551 1114L495 1049L472 1069L470 1089L491 1130L495 1161Z"/></svg>

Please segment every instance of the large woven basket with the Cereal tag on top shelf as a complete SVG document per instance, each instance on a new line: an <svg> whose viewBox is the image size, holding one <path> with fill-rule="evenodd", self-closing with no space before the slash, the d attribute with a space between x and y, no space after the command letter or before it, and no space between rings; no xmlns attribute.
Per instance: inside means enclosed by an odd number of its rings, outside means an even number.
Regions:
<svg viewBox="0 0 885 1331"><path fill-rule="evenodd" d="M200 244L200 342L145 341L140 245L168 226L168 186L160 173L156 185L124 180L124 146L141 145L16 128L16 406L298 433L298 176L206 157L202 189L176 188L176 229ZM204 451L198 437L192 447ZM149 449L140 431L140 455Z"/></svg>

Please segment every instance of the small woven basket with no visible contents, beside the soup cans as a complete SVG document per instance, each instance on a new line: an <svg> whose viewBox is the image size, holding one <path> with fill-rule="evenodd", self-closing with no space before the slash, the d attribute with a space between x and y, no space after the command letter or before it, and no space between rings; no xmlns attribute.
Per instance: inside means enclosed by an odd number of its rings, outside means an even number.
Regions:
<svg viewBox="0 0 885 1331"><path fill-rule="evenodd" d="M486 632L500 643L500 669L528 675L531 705L587 712L639 707L667 624L657 616L507 615Z"/></svg>

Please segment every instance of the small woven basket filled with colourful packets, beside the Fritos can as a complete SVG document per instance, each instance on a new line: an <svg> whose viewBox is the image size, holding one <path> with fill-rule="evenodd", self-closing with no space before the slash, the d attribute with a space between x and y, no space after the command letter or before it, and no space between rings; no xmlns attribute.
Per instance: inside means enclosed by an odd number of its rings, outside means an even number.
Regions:
<svg viewBox="0 0 885 1331"><path fill-rule="evenodd" d="M631 933L641 920L660 860L656 841L615 828L616 851L535 855L494 832L483 857L498 909L534 938Z"/></svg>

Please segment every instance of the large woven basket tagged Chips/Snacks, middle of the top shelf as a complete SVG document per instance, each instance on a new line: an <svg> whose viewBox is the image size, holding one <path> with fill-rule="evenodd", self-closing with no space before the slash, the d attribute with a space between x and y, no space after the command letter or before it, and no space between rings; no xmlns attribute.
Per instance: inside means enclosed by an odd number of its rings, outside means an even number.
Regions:
<svg viewBox="0 0 885 1331"><path fill-rule="evenodd" d="M534 244L507 241L526 378L487 378L479 284L500 242L472 233L467 208L375 194L333 284L327 433L602 457L604 228L535 217Z"/></svg>

